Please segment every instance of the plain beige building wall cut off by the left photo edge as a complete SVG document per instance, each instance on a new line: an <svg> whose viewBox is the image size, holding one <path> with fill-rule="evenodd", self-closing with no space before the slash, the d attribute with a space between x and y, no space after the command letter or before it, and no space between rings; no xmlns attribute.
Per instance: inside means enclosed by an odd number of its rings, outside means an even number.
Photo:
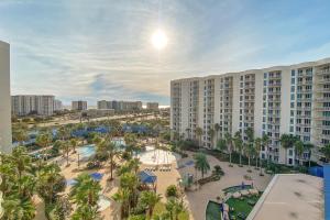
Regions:
<svg viewBox="0 0 330 220"><path fill-rule="evenodd" d="M0 152L10 153L10 45L0 41Z"/></svg>

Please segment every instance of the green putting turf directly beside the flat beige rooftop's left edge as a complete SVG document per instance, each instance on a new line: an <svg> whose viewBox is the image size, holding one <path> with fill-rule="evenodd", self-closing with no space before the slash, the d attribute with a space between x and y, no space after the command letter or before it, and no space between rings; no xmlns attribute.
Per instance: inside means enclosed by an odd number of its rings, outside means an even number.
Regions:
<svg viewBox="0 0 330 220"><path fill-rule="evenodd" d="M243 212L246 217L253 209L253 205L249 205L248 201L252 200L254 204L258 200L260 196L251 196L251 197L243 197L244 199L241 200L235 198L230 198L226 201L226 204L229 205L230 208L234 208L233 212L230 212L230 215L237 216L239 212Z"/></svg>

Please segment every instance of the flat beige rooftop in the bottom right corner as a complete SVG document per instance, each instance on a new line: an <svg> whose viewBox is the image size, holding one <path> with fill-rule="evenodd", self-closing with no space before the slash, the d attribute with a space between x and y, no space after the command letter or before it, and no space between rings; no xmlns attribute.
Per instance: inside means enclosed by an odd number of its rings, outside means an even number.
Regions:
<svg viewBox="0 0 330 220"><path fill-rule="evenodd" d="M323 179L305 174L278 174L248 220L324 219Z"/></svg>

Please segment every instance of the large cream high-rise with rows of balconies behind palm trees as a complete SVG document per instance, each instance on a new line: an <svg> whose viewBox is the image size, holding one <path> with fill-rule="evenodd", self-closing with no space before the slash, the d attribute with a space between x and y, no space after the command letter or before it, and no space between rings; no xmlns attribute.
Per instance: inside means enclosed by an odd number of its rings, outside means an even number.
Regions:
<svg viewBox="0 0 330 220"><path fill-rule="evenodd" d="M319 147L330 143L330 58L173 80L170 128L205 147L215 147L226 133L240 132L246 141L251 128L255 138L270 138L262 158L289 165L295 151L282 147L279 139L293 134L317 146L311 155L317 161Z"/></svg>

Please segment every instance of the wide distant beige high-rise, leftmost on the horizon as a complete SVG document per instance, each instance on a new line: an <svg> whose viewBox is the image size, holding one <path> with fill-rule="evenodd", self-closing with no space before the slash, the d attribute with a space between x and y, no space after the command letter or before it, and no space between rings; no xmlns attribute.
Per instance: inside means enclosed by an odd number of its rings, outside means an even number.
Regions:
<svg viewBox="0 0 330 220"><path fill-rule="evenodd" d="M54 96L19 95L11 97L11 109L14 116L54 114Z"/></svg>

